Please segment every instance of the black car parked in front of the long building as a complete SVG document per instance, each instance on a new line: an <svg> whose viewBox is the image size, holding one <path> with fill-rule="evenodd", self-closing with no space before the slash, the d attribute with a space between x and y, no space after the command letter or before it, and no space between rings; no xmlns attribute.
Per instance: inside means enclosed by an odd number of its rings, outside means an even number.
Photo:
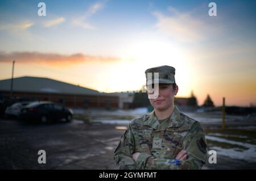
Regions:
<svg viewBox="0 0 256 181"><path fill-rule="evenodd" d="M33 102L22 108L20 118L27 121L42 123L65 120L72 121L73 112L68 108L52 102Z"/></svg>

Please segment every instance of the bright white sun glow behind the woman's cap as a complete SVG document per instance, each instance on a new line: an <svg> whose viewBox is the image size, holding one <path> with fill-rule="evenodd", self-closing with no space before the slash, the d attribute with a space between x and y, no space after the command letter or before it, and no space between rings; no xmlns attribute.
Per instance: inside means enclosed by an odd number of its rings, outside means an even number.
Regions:
<svg viewBox="0 0 256 181"><path fill-rule="evenodd" d="M189 96L193 89L192 66L188 56L174 44L160 41L138 41L130 48L130 56L134 58L134 68L147 68L161 65L174 66L176 83L179 85L178 96Z"/></svg>

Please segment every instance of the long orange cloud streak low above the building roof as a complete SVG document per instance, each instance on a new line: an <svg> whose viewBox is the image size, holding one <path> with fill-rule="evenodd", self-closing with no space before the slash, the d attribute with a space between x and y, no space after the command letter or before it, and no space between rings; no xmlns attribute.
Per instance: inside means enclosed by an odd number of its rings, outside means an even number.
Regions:
<svg viewBox="0 0 256 181"><path fill-rule="evenodd" d="M11 52L5 53L0 51L1 62L21 62L24 64L49 64L49 65L71 65L89 62L114 62L119 61L118 57L93 56L88 54L76 53L71 55L58 53L39 53L39 52Z"/></svg>

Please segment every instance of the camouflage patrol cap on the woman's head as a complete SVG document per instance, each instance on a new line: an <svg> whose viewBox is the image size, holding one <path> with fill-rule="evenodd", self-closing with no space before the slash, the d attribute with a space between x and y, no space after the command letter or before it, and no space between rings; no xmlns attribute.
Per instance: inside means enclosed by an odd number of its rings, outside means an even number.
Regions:
<svg viewBox="0 0 256 181"><path fill-rule="evenodd" d="M147 73L152 73L152 76L147 77ZM158 83L175 83L175 68L172 66L164 65L157 66L155 68L150 68L145 71L147 85L154 84L154 73L159 73L159 82Z"/></svg>

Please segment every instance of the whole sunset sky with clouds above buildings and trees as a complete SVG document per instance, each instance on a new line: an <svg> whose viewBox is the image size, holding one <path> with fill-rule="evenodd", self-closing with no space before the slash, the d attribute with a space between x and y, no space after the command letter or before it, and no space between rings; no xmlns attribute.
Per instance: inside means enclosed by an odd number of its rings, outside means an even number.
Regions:
<svg viewBox="0 0 256 181"><path fill-rule="evenodd" d="M147 68L170 65L177 96L256 105L255 32L256 1L0 0L0 79L11 78L15 60L14 77L131 91Z"/></svg>

